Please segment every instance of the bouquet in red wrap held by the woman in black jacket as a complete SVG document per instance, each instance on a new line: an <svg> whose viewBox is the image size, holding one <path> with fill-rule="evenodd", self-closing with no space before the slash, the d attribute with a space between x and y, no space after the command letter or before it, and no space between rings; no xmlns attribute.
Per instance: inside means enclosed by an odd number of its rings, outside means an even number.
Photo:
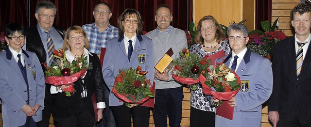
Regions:
<svg viewBox="0 0 311 127"><path fill-rule="evenodd" d="M75 93L73 82L83 77L87 69L91 69L91 65L88 64L87 57L81 55L77 60L73 60L71 63L67 61L65 51L62 48L59 51L53 49L54 60L51 66L47 66L45 73L45 82L54 86L69 85L62 91L66 96L71 96Z"/></svg>

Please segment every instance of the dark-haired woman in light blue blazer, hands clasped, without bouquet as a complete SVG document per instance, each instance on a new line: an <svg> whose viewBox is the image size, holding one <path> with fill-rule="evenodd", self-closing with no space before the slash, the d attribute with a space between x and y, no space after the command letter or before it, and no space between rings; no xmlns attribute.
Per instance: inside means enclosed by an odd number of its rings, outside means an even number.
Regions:
<svg viewBox="0 0 311 127"><path fill-rule="evenodd" d="M0 98L3 127L36 127L42 120L44 74L35 53L25 51L23 26L8 24L4 30L8 48L0 52Z"/></svg>

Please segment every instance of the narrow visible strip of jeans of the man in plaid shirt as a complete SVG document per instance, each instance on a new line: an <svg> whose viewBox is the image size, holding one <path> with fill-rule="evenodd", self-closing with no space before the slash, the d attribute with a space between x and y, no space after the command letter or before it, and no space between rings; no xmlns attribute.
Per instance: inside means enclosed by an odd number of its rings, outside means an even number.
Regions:
<svg viewBox="0 0 311 127"><path fill-rule="evenodd" d="M109 88L104 86L104 101L106 108L103 111L103 119L100 122L97 122L96 127L117 127L115 119L112 115L112 111L109 108Z"/></svg>

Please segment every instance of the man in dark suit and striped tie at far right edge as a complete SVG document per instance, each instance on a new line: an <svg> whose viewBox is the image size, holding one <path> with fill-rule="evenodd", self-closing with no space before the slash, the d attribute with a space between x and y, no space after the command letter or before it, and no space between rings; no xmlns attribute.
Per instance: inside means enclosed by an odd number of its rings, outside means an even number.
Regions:
<svg viewBox="0 0 311 127"><path fill-rule="evenodd" d="M274 49L269 119L274 127L311 127L310 5L296 5L291 23L295 35L278 42Z"/></svg>

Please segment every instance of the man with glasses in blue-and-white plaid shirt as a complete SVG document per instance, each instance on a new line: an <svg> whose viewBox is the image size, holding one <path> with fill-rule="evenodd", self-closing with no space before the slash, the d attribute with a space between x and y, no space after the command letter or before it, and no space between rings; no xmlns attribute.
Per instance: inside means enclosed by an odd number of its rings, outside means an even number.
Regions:
<svg viewBox="0 0 311 127"><path fill-rule="evenodd" d="M109 24L112 16L110 6L105 2L98 3L93 11L95 23L83 25L82 28L89 40L89 52L101 54L101 48L106 47L109 39L118 37L118 28Z"/></svg>

